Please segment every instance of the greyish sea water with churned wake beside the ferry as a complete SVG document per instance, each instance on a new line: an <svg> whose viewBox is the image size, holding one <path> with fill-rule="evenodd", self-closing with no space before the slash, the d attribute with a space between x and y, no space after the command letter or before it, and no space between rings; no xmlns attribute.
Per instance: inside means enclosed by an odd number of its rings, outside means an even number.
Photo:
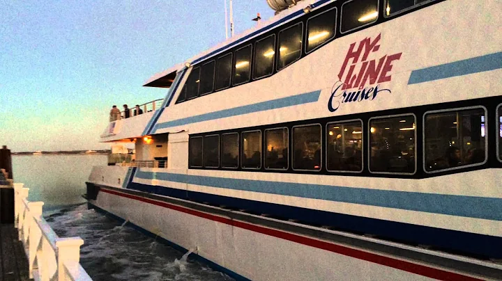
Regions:
<svg viewBox="0 0 502 281"><path fill-rule="evenodd" d="M44 217L60 237L80 236L80 263L93 280L233 280L132 227L93 209L82 194L103 155L13 156L14 181L43 201Z"/></svg>

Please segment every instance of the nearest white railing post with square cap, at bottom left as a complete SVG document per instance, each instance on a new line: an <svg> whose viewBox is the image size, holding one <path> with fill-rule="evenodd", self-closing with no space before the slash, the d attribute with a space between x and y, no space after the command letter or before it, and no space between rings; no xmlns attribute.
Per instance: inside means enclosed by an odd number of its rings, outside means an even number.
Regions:
<svg viewBox="0 0 502 281"><path fill-rule="evenodd" d="M80 262L80 246L84 245L84 240L80 237L68 237L56 239L58 248L58 280L66 280L65 263L68 266L75 266Z"/></svg>

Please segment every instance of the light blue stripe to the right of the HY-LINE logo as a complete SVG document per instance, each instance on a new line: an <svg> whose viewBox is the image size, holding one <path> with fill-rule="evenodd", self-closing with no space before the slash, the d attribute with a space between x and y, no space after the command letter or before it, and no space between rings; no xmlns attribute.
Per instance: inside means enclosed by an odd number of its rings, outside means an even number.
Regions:
<svg viewBox="0 0 502 281"><path fill-rule="evenodd" d="M502 68L502 52L445 63L411 72L408 84L423 83Z"/></svg>

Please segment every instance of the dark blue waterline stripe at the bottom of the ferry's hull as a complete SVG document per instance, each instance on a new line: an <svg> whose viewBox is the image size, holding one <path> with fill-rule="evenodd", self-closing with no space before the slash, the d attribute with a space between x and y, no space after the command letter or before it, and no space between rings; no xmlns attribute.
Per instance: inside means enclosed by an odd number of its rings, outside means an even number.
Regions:
<svg viewBox="0 0 502 281"><path fill-rule="evenodd" d="M126 221L123 218L116 216L116 215L110 213L109 211L106 211L105 209L101 209L100 207L96 206L95 204L91 204L88 202L87 208L88 209L96 209L96 211L100 211L103 214L107 214L107 216L111 216L115 220L119 221L119 223L123 223ZM151 238L155 239L155 241L160 241L161 243L164 243L165 245L170 246L180 252L188 252L188 249L185 249L182 246L179 246L178 244L176 244L172 241L164 239L161 236L158 236L157 234L153 234L152 232L145 230L143 227L140 227L139 225L135 225L134 223L130 223L129 221L128 221L127 225L134 228L135 230L137 230L139 232L142 232L146 236L150 236ZM229 275L231 278L234 278L235 280L250 281L248 278L245 278L244 276L239 275L238 273L236 273L234 271L231 271L223 266L220 266L219 264L215 264L214 262L211 262L209 259L206 259L204 257L196 255L193 252L190 255L188 255L188 257L190 257L190 259L196 259L199 262L207 264L209 267L213 268L215 271L220 271L222 273L225 273L225 274Z"/></svg>

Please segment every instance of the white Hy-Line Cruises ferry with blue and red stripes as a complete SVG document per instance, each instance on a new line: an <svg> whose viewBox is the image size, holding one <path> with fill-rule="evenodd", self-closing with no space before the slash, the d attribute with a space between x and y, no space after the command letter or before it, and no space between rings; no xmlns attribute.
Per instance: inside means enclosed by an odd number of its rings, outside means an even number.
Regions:
<svg viewBox="0 0 502 281"><path fill-rule="evenodd" d="M502 2L268 3L109 122L89 206L238 280L499 280Z"/></svg>

